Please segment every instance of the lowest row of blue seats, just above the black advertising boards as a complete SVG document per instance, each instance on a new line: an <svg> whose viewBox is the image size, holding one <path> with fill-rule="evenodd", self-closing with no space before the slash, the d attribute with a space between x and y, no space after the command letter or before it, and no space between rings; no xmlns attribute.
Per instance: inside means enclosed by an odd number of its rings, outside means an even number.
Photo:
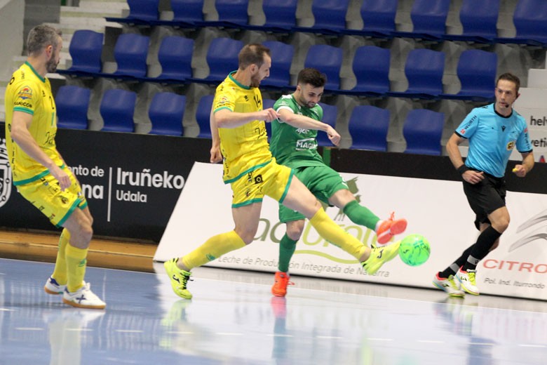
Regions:
<svg viewBox="0 0 547 365"><path fill-rule="evenodd" d="M211 138L209 115L212 95L203 96L196 109L196 121L200 128L198 138ZM60 128L88 128L87 112L90 90L79 86L61 86L55 95ZM133 113L137 94L122 89L109 89L100 102L100 114L104 121L102 131L133 132ZM159 92L151 100L148 115L152 123L151 134L184 135L182 119L186 97L170 92ZM272 107L274 100L265 99L264 108ZM320 103L323 122L336 126L337 107ZM370 105L353 108L349 119L351 148L360 150L387 150L387 133L390 124L389 110ZM411 110L403 124L403 136L407 153L441 154L440 138L443 134L444 114L431 110ZM270 124L267 123L271 135ZM326 133L318 133L318 144L332 146Z"/></svg>

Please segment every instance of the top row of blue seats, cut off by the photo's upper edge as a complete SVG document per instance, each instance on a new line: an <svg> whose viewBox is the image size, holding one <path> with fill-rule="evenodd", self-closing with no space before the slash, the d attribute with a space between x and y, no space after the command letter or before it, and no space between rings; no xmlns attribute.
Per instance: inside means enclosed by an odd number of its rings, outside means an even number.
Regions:
<svg viewBox="0 0 547 365"><path fill-rule="evenodd" d="M248 22L249 0L215 0L219 20L203 19L204 0L170 0L173 20L159 19L159 0L128 0L130 13L126 18L106 18L113 22L135 25L170 25L175 27L232 27L269 32L317 32L351 34L377 38L410 37L431 41L471 41L484 44L527 44L547 46L547 1L518 0L513 13L514 37L497 36L500 0L463 0L459 9L462 34L447 34L446 22L450 0L414 0L410 11L412 32L396 31L398 0L363 0L360 15L362 29L346 27L350 0L313 0L311 11L315 22L311 27L297 27L298 0L263 0L264 25Z"/></svg>

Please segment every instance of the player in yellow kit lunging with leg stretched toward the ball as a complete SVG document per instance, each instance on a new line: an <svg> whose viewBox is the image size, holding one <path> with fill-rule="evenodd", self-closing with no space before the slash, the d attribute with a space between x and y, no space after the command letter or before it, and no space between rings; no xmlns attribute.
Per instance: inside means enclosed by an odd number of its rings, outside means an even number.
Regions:
<svg viewBox="0 0 547 365"><path fill-rule="evenodd" d="M231 208L235 227L210 237L194 251L164 263L173 291L182 298L192 296L187 289L191 269L252 242L264 195L306 216L324 239L351 253L369 274L377 272L398 254L398 243L371 250L342 230L292 170L278 165L271 156L264 122L280 116L271 108L262 109L258 88L260 81L269 76L270 67L269 48L248 44L238 55L238 69L217 87L210 115L210 161L223 160L223 180L231 185L234 194Z"/></svg>

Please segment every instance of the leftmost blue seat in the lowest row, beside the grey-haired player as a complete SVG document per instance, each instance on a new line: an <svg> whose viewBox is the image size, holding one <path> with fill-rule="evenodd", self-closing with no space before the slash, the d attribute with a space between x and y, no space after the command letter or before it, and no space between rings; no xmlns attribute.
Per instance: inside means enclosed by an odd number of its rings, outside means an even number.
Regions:
<svg viewBox="0 0 547 365"><path fill-rule="evenodd" d="M91 91L79 86L63 85L55 94L59 128L87 129Z"/></svg>

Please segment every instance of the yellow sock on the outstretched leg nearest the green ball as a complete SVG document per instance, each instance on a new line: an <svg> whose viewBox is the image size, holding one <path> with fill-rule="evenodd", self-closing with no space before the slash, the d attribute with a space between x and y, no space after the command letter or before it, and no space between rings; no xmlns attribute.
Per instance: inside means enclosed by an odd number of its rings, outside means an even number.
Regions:
<svg viewBox="0 0 547 365"><path fill-rule="evenodd" d="M321 237L331 244L342 248L342 250L346 251L357 260L360 260L361 256L363 256L368 249L368 247L363 245L358 239L342 230L339 225L334 223L327 213L325 213L323 208L320 208L316 215L311 217L309 223L311 223Z"/></svg>

